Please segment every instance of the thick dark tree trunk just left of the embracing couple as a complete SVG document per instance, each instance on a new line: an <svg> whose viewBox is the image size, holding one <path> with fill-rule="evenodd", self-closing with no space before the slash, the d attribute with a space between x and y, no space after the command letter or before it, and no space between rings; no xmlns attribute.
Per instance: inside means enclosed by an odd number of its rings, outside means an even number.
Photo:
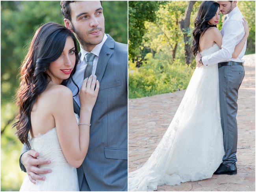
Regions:
<svg viewBox="0 0 256 192"><path fill-rule="evenodd" d="M191 47L189 45L189 24L190 24L190 15L192 12L193 5L196 1L189 1L189 4L187 6L187 9L185 11L185 17L180 21L180 28L184 35L184 42L185 42L185 58L186 58L186 64L189 65L192 63L192 51Z"/></svg>

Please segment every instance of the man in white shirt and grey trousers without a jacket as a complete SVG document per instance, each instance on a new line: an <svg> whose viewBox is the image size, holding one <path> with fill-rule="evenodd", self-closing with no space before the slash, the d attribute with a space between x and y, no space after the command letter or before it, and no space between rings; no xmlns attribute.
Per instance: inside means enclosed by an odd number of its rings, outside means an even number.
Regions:
<svg viewBox="0 0 256 192"><path fill-rule="evenodd" d="M236 44L245 35L243 15L236 6L236 1L217 1L223 15L226 15L221 34L223 35L221 50L202 57L196 57L197 66L214 65L219 63L219 98L221 112L221 126L223 129L223 144L225 155L223 162L214 174L237 174L237 98L238 89L245 76L242 59L246 50L244 47L237 58L232 58Z"/></svg>

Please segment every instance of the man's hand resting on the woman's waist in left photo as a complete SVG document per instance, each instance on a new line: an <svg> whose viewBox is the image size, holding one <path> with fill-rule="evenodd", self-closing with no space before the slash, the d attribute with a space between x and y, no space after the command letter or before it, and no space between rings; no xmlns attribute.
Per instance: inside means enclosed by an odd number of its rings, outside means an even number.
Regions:
<svg viewBox="0 0 256 192"><path fill-rule="evenodd" d="M45 180L45 176L38 174L51 173L50 169L38 168L37 165L50 164L51 161L47 159L36 159L39 153L35 150L29 150L22 154L21 161L26 168L28 177L32 183L35 184L36 180Z"/></svg>

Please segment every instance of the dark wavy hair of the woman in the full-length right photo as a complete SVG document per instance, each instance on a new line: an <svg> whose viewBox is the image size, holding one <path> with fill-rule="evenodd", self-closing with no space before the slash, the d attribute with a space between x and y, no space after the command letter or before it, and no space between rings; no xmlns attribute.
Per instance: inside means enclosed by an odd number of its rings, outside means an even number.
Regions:
<svg viewBox="0 0 256 192"><path fill-rule="evenodd" d="M208 21L213 18L217 12L219 4L214 1L203 1L199 7L197 18L194 21L195 29L193 30L193 45L192 53L196 55L199 50L200 36L204 34L206 30L210 27L216 27L214 25L208 24Z"/></svg>

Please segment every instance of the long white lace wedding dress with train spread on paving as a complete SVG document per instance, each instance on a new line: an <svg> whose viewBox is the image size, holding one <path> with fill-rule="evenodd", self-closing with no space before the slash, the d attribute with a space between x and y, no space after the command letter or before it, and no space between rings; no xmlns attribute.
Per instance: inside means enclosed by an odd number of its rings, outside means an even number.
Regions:
<svg viewBox="0 0 256 192"><path fill-rule="evenodd" d="M219 50L214 44L202 56ZM212 177L224 155L218 65L197 67L174 118L156 150L129 173L128 190L156 190Z"/></svg>

